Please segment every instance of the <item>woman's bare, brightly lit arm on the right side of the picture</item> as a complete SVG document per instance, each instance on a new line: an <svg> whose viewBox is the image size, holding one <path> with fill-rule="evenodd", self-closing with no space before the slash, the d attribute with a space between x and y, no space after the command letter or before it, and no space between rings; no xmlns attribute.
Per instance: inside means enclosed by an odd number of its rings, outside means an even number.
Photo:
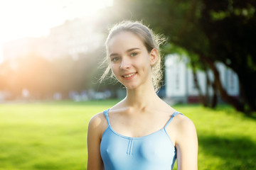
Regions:
<svg viewBox="0 0 256 170"><path fill-rule="evenodd" d="M177 122L176 149L178 170L198 169L198 138L193 122L181 116Z"/></svg>

